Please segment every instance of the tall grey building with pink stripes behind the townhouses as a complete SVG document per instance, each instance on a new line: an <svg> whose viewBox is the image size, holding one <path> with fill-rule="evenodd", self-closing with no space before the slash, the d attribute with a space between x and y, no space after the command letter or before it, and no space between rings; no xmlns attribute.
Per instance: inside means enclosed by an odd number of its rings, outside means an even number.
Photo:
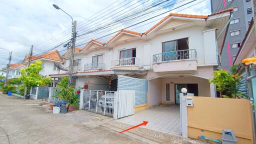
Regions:
<svg viewBox="0 0 256 144"><path fill-rule="evenodd" d="M224 45L220 51L219 66L219 68L230 70L250 20L253 17L252 3L251 0L210 0L210 2L212 13L230 7L233 8Z"/></svg>

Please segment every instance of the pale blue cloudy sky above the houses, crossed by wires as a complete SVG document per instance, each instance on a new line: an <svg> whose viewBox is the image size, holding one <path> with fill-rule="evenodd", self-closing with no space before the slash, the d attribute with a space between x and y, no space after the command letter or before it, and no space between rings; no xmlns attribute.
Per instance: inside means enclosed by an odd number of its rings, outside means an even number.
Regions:
<svg viewBox="0 0 256 144"><path fill-rule="evenodd" d="M189 1L193 0L168 0L166 3L169 6L154 6L153 8L158 9L155 13L140 15L141 17L133 21L116 22L111 27L105 28L107 23L114 22L118 18L118 14L130 14L136 8L145 9L143 6L154 5L159 0L0 0L0 47L13 51L11 63L22 60L32 44L35 55L54 49L56 46L59 51L64 52L65 47L62 46L62 42L71 36L71 18L60 9L55 9L53 3L77 21L77 35L84 35L77 37L76 43L78 47L82 47L92 38L105 42L115 31L165 11L168 12L126 29L144 32L170 12L210 14L210 0L196 0L186 4L185 7L179 7ZM101 26L104 30L85 33L97 26ZM107 32L111 34L99 38ZM8 51L0 49L0 68L6 66L7 59Z"/></svg>

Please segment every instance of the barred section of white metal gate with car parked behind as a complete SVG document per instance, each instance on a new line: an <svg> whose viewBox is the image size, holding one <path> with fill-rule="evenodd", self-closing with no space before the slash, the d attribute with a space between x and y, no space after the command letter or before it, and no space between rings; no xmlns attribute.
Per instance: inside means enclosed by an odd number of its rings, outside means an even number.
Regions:
<svg viewBox="0 0 256 144"><path fill-rule="evenodd" d="M81 108L103 115L113 116L114 91L83 90Z"/></svg>

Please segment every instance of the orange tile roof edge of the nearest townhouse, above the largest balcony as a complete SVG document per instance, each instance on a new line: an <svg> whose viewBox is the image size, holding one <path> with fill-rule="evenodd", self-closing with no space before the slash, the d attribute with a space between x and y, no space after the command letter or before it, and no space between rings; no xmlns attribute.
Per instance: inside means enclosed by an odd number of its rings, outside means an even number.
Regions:
<svg viewBox="0 0 256 144"><path fill-rule="evenodd" d="M188 18L203 18L206 19L208 18L208 16L211 15L215 15L215 14L219 14L219 13L223 13L223 12L227 12L227 11L232 11L233 8L227 8L215 13L212 13L210 15L193 15L193 14L180 14L180 13L170 13L169 15L165 16L163 19L161 19L159 22L157 22L155 25L153 25L151 28L149 28L146 32L144 32L144 34L147 34L148 32L150 32L151 30L153 30L155 27L157 27L159 24L161 24L163 21L165 21L167 18L169 18L170 16L179 16L179 17L188 17Z"/></svg>

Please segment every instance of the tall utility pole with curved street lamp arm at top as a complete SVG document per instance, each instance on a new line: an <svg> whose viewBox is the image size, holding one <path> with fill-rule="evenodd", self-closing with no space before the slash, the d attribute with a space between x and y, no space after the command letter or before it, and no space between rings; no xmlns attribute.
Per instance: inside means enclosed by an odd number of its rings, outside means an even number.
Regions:
<svg viewBox="0 0 256 144"><path fill-rule="evenodd" d="M59 8L56 4L52 4L56 9L60 9L65 12L63 9ZM66 13L66 12L65 12ZM72 19L72 44L70 49L70 58L69 58L69 68L68 68L68 86L72 86L72 72L73 72L73 61L74 61L74 46L75 46L75 37L76 37L76 20L73 21L71 15L66 13Z"/></svg>

